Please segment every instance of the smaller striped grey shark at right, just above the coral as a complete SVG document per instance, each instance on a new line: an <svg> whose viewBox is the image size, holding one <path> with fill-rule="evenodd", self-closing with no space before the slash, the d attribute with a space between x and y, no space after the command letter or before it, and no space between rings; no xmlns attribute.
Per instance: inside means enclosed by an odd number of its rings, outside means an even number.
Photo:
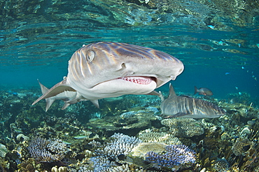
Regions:
<svg viewBox="0 0 259 172"><path fill-rule="evenodd" d="M184 95L177 96L171 84L169 86L169 97L162 101L160 108L165 118L202 119L221 117L225 114L224 110L211 102Z"/></svg>

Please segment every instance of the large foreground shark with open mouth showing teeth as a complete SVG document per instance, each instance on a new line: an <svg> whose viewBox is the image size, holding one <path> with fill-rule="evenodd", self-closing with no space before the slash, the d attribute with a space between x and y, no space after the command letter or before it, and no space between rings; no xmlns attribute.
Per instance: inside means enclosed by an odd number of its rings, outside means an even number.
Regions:
<svg viewBox="0 0 259 172"><path fill-rule="evenodd" d="M47 99L49 108L64 100L65 109L90 100L99 107L102 98L160 95L155 88L175 80L183 69L181 60L153 48L104 41L83 45L69 60L67 76L50 89L40 84L43 95L32 105Z"/></svg>

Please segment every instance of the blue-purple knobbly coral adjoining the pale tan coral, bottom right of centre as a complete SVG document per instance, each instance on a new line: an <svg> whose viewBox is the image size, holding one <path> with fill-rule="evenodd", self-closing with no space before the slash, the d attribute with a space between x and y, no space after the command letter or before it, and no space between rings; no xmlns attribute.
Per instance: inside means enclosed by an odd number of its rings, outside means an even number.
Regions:
<svg viewBox="0 0 259 172"><path fill-rule="evenodd" d="M146 161L155 164L157 168L172 168L183 164L195 163L195 152L190 150L186 145L168 145L167 152L155 153L148 152L146 154Z"/></svg>

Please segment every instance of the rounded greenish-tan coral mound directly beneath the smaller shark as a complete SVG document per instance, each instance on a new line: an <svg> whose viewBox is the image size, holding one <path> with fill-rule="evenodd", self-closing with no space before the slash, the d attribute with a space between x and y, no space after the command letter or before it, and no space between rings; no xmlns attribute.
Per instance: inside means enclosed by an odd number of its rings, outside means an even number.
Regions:
<svg viewBox="0 0 259 172"><path fill-rule="evenodd" d="M191 118L163 119L161 124L169 126L172 134L177 137L190 138L204 133L204 128L200 126L200 123Z"/></svg>

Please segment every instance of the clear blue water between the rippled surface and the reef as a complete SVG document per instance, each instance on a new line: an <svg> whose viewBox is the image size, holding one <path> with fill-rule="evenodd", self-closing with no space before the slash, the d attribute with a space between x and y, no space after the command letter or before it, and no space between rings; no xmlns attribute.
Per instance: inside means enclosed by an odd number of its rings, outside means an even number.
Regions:
<svg viewBox="0 0 259 172"><path fill-rule="evenodd" d="M83 44L118 41L155 48L179 58L185 70L172 81L176 91L193 93L197 86L210 88L215 98L246 92L251 98L258 99L259 34L256 26L235 26L232 31L188 25L97 27L89 31L74 27L19 38L25 30L38 27L51 30L55 25L38 23L1 30L0 79L3 88L29 89L38 86L36 79L51 87L66 76L68 60ZM239 39L241 44L228 42L229 39ZM221 44L213 41L221 41ZM224 51L227 48L235 52ZM168 85L162 87L164 91L167 89Z"/></svg>

